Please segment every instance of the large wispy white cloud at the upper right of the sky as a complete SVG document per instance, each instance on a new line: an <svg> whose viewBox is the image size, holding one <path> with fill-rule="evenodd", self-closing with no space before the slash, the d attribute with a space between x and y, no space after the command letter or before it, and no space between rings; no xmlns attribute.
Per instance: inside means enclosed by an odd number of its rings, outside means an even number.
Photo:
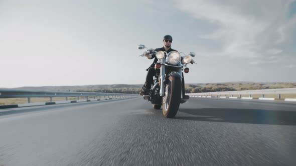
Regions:
<svg viewBox="0 0 296 166"><path fill-rule="evenodd" d="M264 58L281 55L284 52L281 45L289 42L290 34L295 30L296 15L288 17L292 1L176 0L176 7L218 26L212 33L200 37L219 41L220 54ZM215 54L211 50L207 53Z"/></svg>

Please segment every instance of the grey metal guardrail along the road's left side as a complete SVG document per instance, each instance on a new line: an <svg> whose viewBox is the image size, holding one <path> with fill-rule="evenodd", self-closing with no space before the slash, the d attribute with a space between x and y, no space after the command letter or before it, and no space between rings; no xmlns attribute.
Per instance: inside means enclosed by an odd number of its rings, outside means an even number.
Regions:
<svg viewBox="0 0 296 166"><path fill-rule="evenodd" d="M52 102L52 97L86 97L89 96L119 96L119 97L129 97L137 94L126 94L126 93L102 93L102 92L69 92L69 91L33 91L33 90L16 90L16 89L0 89L0 98L28 98L28 103L31 102L31 97L50 97Z"/></svg>

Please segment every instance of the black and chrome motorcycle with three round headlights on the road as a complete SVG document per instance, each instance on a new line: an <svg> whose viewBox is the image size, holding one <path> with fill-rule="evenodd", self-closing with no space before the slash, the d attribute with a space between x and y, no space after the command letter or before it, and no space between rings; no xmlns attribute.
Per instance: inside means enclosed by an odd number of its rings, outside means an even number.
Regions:
<svg viewBox="0 0 296 166"><path fill-rule="evenodd" d="M138 49L147 49L145 45L138 45ZM143 95L144 99L149 100L153 104L154 109L160 109L163 106L163 114L165 117L174 117L179 109L180 103L187 102L183 98L182 93L182 70L185 73L189 72L187 64L195 63L192 57L195 56L194 52L188 55L183 52L171 51L156 51L153 48L147 49L139 56L145 54L156 54L158 58L155 64L156 75L154 76L153 85L150 89L150 95Z"/></svg>

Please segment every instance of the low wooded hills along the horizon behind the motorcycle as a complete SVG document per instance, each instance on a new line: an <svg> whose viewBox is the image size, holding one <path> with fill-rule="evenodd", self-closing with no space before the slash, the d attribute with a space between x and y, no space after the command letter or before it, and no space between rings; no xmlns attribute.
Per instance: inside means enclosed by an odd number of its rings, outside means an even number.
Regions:
<svg viewBox="0 0 296 166"><path fill-rule="evenodd" d="M89 92L118 92L138 93L142 84L97 84L81 86L25 86L12 89L20 90L44 90L44 91L89 91ZM210 91L233 91L253 90L268 88L289 88L296 87L296 82L215 82L215 83L188 83L185 84L185 91L210 92Z"/></svg>

